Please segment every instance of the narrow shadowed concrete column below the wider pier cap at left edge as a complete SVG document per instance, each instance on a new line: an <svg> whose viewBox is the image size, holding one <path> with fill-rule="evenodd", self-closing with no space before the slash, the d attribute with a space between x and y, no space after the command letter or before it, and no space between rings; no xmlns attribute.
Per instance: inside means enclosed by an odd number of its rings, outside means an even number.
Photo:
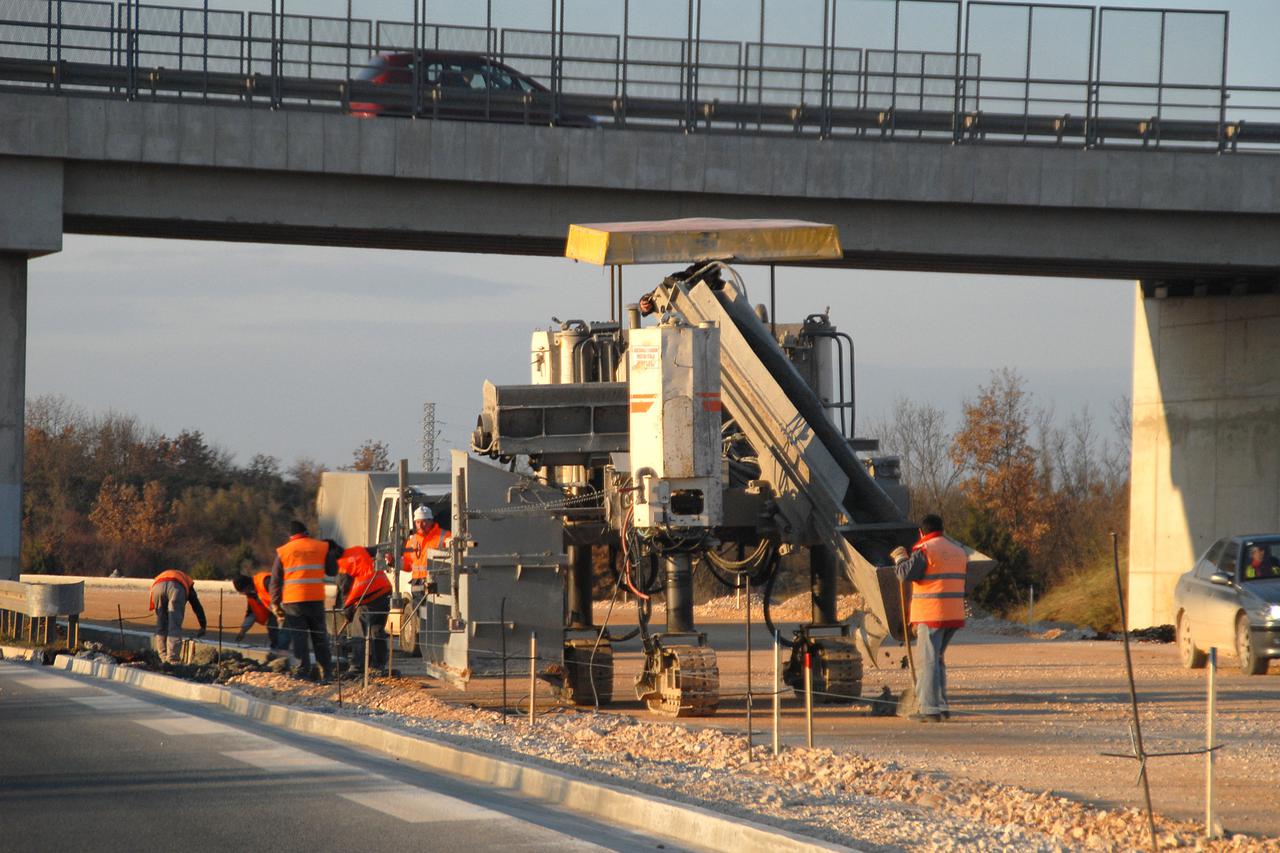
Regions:
<svg viewBox="0 0 1280 853"><path fill-rule="evenodd" d="M27 386L27 256L0 252L0 580L17 580Z"/></svg>

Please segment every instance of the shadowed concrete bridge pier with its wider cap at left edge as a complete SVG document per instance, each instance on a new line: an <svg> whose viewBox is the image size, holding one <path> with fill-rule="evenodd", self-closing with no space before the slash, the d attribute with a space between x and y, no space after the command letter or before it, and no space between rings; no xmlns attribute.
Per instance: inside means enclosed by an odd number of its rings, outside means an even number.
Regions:
<svg viewBox="0 0 1280 853"><path fill-rule="evenodd" d="M31 134L40 123L0 126ZM61 251L63 161L0 156L0 580L17 580L22 569L27 261Z"/></svg>

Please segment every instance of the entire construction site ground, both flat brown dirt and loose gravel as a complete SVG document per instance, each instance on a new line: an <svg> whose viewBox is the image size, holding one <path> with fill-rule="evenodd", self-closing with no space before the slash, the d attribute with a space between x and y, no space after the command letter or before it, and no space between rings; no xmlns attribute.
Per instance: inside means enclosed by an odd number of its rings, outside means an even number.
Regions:
<svg viewBox="0 0 1280 853"><path fill-rule="evenodd" d="M132 608L136 616L137 599L136 590L91 588L86 619L106 621L115 616L116 603L125 615ZM232 602L238 605L239 601L238 596L227 597L224 625L228 635L234 633L243 612L242 606L232 607ZM145 593L141 605L145 613ZM206 602L206 610L209 607ZM792 620L780 622L783 637L796 624L800 611L803 608L795 605L780 610L783 617ZM634 607L618 608L612 621L625 629L634 624ZM604 608L598 608L596 619L603 620L604 615ZM741 792L731 795L728 790L718 790L726 768L741 774L773 763L769 751L773 656L759 607L753 607L751 616L751 727L756 744L751 763L746 763L745 736L745 613L733 607L732 597L699 607L699 625L718 652L723 701L713 717L681 720L678 725L687 735L646 725L632 731L631 724L621 729L618 722L593 724L591 720L599 717L554 710L550 686L539 683L539 711L547 715L541 725L530 730L517 719L509 719L506 724L512 726L515 740L492 735L481 735L480 740L609 777L637 777L645 785L685 792L685 795L694 785L705 789L703 795L694 797L696 800L724 800L735 808L772 815L777 821L791 824L791 829L799 829L799 822L831 830L852 821L851 825L861 829L851 838L835 830L823 834L874 849L997 849L1002 845L1023 849L1041 847L1041 841L1043 849L1057 849L1055 844L1107 849L1146 845L1144 818L1124 811L1142 804L1138 765L1102 754L1133 751L1123 644L1071 640L1066 638L1074 637L1073 631L1043 626L1024 630L989 619L974 620L948 651L951 720L919 724L896 716L876 716L861 704L852 708L818 706L814 712L818 749L808 752L799 749L805 740L804 703L785 689L782 743L787 757L773 770L748 774L759 783L769 783L759 788L754 802L741 802ZM659 625L660 620L659 608L654 624ZM211 621L216 624L216 616ZM131 624L142 626L138 620ZM512 649L512 654L520 651ZM909 681L908 671L899 666L900 647L886 649L882 658L882 669L867 667L863 688L867 698L877 697L883 688L897 695ZM1133 660L1147 752L1202 747L1206 672L1181 669L1172 643L1135 643ZM1275 725L1280 720L1280 666L1270 675L1248 678L1233 665L1233 658L1222 656L1217 676L1216 730L1224 745L1216 760L1217 820L1229 835L1253 836L1248 841L1236 838L1231 849L1280 850L1280 726ZM643 666L637 640L616 647L614 666L616 702L605 712L669 726L669 721L650 713L631 693L632 679ZM494 721L503 722L488 711L500 704L500 679L475 679L466 689L460 689L426 679L420 658L401 656L397 669L404 678L380 685L376 701L366 704L403 712L406 703L408 707L425 703L424 715L411 716L443 716L452 721L451 725L474 719L475 725L492 729ZM239 676L236 681L253 692L275 694L282 701L326 703L337 698L335 685L319 688L265 672ZM360 698L351 693L352 686L346 685L346 699L358 703ZM527 676L509 678L508 704L527 708ZM398 698L390 699L388 694ZM447 706L440 702L453 708L444 710ZM572 730L562 731L566 725ZM618 731L630 731L634 738L618 740L614 738ZM655 739L653 731L669 734L658 735L659 743L646 743ZM599 743L589 745L584 736ZM545 740L541 745L540 738ZM660 754L660 742L678 747L680 761L643 768L645 761ZM590 760L575 761L572 754L563 754L566 743L581 744ZM616 754L604 756L607 751ZM605 765L608 768L603 768ZM1156 812L1175 821L1161 825L1165 843L1197 844L1194 822L1204 817L1204 757L1152 758L1148 768ZM891 813L873 820L865 802L849 806L850 795L855 800L879 798L892 804L888 807ZM854 808L852 816L837 820L828 813L842 808ZM929 821L918 820L920 809L933 813ZM955 820L964 826L948 824Z"/></svg>

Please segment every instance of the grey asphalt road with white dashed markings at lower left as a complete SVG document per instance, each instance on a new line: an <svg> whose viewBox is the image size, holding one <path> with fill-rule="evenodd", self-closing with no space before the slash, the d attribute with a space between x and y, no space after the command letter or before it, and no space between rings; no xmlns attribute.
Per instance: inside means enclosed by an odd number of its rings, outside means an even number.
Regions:
<svg viewBox="0 0 1280 853"><path fill-rule="evenodd" d="M654 850L346 745L118 683L0 662L5 850Z"/></svg>

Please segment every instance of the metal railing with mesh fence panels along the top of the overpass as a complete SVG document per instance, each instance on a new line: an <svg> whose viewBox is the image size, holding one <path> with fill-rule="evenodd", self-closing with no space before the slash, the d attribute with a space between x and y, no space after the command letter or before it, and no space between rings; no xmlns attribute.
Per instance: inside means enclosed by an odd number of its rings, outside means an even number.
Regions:
<svg viewBox="0 0 1280 853"><path fill-rule="evenodd" d="M0 0L0 87L274 109L364 101L404 115L539 124L590 115L602 127L682 132L1280 150L1280 87L1226 83L1225 12L879 0L873 10L891 13L892 38L858 45L845 42L867 22L840 17L844 0L818 0L822 44L806 45L768 41L768 4L745 0L760 10L758 41L704 38L701 0L686 0L684 38L634 35L630 12L622 33L566 29L563 0L547 29L434 23L420 0L412 20L293 14L278 1L239 12ZM922 9L946 50L913 47L923 41L904 17ZM547 91L358 79L374 54L421 50L489 56Z"/></svg>

